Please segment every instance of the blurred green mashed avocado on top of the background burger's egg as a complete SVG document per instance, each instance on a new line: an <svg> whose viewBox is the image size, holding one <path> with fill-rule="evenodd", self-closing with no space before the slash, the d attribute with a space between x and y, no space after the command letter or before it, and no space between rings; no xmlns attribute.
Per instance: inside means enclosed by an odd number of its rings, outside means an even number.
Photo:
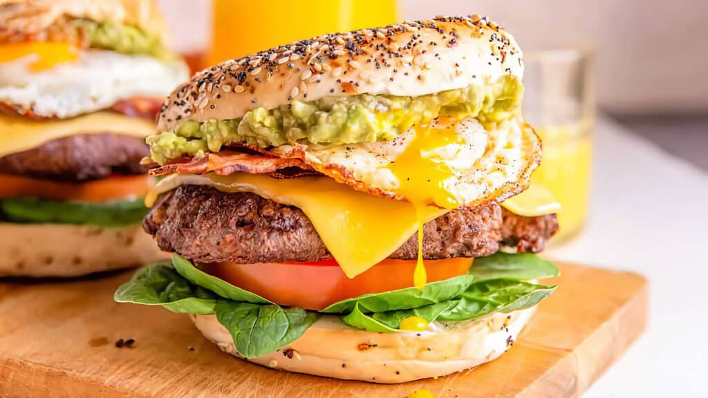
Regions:
<svg viewBox="0 0 708 398"><path fill-rule="evenodd" d="M89 47L129 55L149 55L162 59L171 57L169 50L162 45L159 35L136 26L88 19L77 19L72 23L89 39Z"/></svg>

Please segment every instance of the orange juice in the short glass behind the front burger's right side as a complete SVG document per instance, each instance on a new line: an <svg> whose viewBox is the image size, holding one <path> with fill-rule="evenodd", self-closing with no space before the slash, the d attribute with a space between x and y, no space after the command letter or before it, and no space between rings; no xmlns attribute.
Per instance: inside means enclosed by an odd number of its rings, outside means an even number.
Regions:
<svg viewBox="0 0 708 398"><path fill-rule="evenodd" d="M531 180L548 188L563 206L554 240L576 234L588 215L593 140L590 121L536 128L543 141L543 160Z"/></svg>

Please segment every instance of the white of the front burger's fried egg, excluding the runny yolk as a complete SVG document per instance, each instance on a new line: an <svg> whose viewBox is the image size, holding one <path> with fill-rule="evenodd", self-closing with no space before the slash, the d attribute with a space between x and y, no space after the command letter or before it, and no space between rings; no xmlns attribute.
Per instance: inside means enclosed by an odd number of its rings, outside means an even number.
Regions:
<svg viewBox="0 0 708 398"><path fill-rule="evenodd" d="M437 125L442 127L440 123ZM434 154L423 156L434 155L450 168L453 178L445 188L457 198L457 203L479 205L503 200L528 186L531 171L540 161L541 144L522 120L506 120L487 130L475 118L467 118L454 128L460 143L447 144L434 149ZM406 200L398 193L398 178L387 166L396 161L415 135L416 130L411 129L391 141L305 145L305 157L314 169L338 181L370 193ZM274 152L290 150L292 147L285 145Z"/></svg>

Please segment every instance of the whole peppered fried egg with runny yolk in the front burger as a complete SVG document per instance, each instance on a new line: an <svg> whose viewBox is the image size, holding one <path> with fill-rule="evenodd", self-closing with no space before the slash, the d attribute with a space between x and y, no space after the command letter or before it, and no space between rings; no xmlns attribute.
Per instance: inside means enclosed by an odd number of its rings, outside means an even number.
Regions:
<svg viewBox="0 0 708 398"><path fill-rule="evenodd" d="M513 118L485 128L475 118L436 120L394 140L271 149L360 191L442 208L509 198L529 186L541 160L532 128Z"/></svg>

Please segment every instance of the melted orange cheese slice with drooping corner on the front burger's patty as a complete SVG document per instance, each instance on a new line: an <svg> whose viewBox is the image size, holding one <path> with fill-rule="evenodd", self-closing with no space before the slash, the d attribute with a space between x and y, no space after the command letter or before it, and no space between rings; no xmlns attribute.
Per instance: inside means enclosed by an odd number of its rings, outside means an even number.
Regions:
<svg viewBox="0 0 708 398"><path fill-rule="evenodd" d="M173 174L150 191L146 205L152 206L159 194L181 185L251 192L298 207L349 278L387 258L418 229L416 208L411 203L355 191L329 177L275 179L263 174ZM421 216L423 222L428 222L447 211L427 206L421 210Z"/></svg>

